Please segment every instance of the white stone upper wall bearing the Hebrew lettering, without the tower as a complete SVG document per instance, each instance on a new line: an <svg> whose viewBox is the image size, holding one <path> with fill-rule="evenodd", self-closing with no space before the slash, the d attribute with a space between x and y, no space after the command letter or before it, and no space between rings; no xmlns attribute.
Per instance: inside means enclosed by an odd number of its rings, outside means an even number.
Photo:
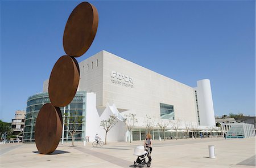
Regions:
<svg viewBox="0 0 256 168"><path fill-rule="evenodd" d="M89 65L88 71L86 71L87 65ZM174 106L175 119L197 122L192 87L107 51L93 55L80 62L79 66L81 77L79 90L96 93L97 107L115 104L121 112L131 110L138 117L145 117L147 114L160 118L160 103L163 103ZM83 67L85 67L84 71ZM112 75L113 71L115 75ZM133 83L129 81L130 77Z"/></svg>

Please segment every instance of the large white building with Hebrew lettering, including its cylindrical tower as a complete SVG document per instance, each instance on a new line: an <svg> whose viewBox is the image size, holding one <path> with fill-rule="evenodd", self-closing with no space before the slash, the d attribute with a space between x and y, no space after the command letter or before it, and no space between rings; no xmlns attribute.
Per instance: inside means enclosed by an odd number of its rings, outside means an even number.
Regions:
<svg viewBox="0 0 256 168"><path fill-rule="evenodd" d="M107 51L85 59L79 67L78 91L86 92L85 134L82 137L89 136L90 141L96 133L105 137L100 122L109 115L117 116L118 120L108 132L109 141L143 140L147 132L146 117L154 120L153 139L163 138L158 123L167 124L166 129L171 129L175 123L179 129L189 126L192 130L210 130L215 126L208 79L199 80L196 87L190 87ZM47 91L48 80L43 84L43 92ZM138 119L131 137L123 123L125 115L130 113L136 114ZM31 128L28 130L31 132Z"/></svg>

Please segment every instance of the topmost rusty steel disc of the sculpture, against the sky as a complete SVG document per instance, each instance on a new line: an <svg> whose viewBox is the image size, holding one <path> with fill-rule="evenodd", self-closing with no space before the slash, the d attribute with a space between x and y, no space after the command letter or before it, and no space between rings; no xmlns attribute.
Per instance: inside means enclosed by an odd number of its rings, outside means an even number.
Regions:
<svg viewBox="0 0 256 168"><path fill-rule="evenodd" d="M63 35L65 53L80 57L93 42L98 28L98 11L88 2L76 6L68 18Z"/></svg>

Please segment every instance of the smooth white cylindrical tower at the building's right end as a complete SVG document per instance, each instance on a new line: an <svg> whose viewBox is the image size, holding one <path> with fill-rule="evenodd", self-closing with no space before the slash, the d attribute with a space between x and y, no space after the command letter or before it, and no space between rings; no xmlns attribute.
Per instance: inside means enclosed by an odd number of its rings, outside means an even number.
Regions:
<svg viewBox="0 0 256 168"><path fill-rule="evenodd" d="M197 81L197 104L201 126L216 126L212 101L212 89L210 80L203 79Z"/></svg>

